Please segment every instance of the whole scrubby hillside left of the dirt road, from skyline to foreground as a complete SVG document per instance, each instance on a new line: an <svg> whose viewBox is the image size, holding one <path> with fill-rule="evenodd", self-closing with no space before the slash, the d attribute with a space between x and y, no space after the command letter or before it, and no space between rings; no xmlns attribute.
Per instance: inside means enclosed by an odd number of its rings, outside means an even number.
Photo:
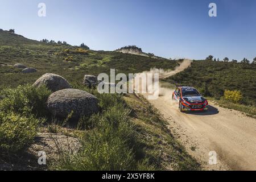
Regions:
<svg viewBox="0 0 256 182"><path fill-rule="evenodd" d="M143 98L99 94L82 85L85 74L173 69L176 61L37 42L6 31L0 31L0 42L0 170L201 168ZM24 74L16 63L37 72ZM73 90L96 96L98 113L76 119L53 115L46 105L52 91L31 85L44 73L61 75ZM46 166L38 165L39 151L47 154Z"/></svg>

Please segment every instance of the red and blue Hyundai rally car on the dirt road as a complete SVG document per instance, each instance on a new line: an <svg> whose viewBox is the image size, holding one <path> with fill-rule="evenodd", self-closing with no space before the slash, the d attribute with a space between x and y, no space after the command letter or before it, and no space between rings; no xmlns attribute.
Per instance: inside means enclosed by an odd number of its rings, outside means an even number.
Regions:
<svg viewBox="0 0 256 182"><path fill-rule="evenodd" d="M172 99L179 101L179 109L183 111L208 110L208 101L193 87L177 86Z"/></svg>

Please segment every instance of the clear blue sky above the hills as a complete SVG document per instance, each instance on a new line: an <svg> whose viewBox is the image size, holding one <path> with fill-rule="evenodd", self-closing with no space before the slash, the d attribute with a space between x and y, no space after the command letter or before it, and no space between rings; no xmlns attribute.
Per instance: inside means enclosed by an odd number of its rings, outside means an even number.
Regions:
<svg viewBox="0 0 256 182"><path fill-rule="evenodd" d="M38 16L46 3L47 16ZM217 17L209 17L209 3ZM254 0L0 0L0 28L30 39L84 42L91 49L136 45L167 58L252 60L256 57Z"/></svg>

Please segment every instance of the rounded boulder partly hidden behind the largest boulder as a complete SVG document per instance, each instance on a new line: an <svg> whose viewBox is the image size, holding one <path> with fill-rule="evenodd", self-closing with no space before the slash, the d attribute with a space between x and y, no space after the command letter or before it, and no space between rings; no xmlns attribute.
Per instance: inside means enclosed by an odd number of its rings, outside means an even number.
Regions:
<svg viewBox="0 0 256 182"><path fill-rule="evenodd" d="M38 78L38 80L36 80L33 84L33 86L37 87L40 87L42 85L46 85L46 87L49 90L52 90L52 92L71 88L69 82L65 78L53 73L44 74L42 77Z"/></svg>

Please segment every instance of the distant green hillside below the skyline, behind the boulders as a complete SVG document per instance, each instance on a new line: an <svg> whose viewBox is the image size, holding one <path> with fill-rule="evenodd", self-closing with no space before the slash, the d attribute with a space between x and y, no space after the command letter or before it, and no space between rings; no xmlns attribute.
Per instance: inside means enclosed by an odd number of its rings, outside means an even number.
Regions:
<svg viewBox="0 0 256 182"><path fill-rule="evenodd" d="M109 74L110 68L117 69L118 73L138 73L151 68L173 69L177 65L176 61L172 60L120 52L74 52L79 47L37 42L7 31L0 31L0 45L2 88L32 83L37 77L48 72L65 76L71 82L80 82L85 74ZM38 72L25 76L19 69L12 67L16 63L36 68Z"/></svg>

